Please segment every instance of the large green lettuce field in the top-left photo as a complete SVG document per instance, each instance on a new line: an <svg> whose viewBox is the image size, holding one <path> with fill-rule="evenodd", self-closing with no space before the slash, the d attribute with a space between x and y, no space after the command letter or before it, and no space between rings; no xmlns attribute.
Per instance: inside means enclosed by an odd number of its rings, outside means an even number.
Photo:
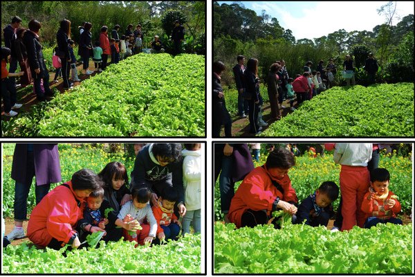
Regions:
<svg viewBox="0 0 415 277"><path fill-rule="evenodd" d="M4 136L205 136L205 57L140 53L4 124Z"/></svg>

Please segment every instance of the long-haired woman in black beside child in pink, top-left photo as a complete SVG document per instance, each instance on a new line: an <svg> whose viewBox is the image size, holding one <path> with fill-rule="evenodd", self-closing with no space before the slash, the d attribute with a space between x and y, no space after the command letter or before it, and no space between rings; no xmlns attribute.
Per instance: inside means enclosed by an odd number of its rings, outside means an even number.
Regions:
<svg viewBox="0 0 415 277"><path fill-rule="evenodd" d="M82 32L84 33L84 32ZM73 83L69 82L69 71L71 71L71 53L69 53L68 39L71 35L71 21L64 19L60 21L60 28L56 33L57 55L62 62L62 78L64 79L64 89L73 88Z"/></svg>

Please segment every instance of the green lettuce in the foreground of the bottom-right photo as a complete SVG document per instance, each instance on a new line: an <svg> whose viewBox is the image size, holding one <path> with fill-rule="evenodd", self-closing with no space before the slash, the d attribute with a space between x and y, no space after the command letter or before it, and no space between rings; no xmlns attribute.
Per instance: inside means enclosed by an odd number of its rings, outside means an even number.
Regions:
<svg viewBox="0 0 415 277"><path fill-rule="evenodd" d="M215 274L411 274L412 224L334 232L214 226Z"/></svg>

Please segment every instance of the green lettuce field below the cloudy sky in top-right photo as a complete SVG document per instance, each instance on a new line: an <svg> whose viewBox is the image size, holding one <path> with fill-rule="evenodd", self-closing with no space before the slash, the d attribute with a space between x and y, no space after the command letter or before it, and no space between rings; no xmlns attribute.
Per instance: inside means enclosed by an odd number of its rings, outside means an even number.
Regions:
<svg viewBox="0 0 415 277"><path fill-rule="evenodd" d="M333 87L261 136L414 136L414 84Z"/></svg>

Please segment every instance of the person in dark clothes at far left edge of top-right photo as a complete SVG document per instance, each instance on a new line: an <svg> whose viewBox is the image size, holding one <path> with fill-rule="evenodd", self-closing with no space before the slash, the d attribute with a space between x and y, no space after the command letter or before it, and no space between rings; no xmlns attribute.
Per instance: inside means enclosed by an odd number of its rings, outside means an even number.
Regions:
<svg viewBox="0 0 415 277"><path fill-rule="evenodd" d="M225 71L223 62L213 64L213 137L221 135L221 127L225 125L225 137L232 136L232 120L226 109L225 96L221 86L221 73Z"/></svg>

